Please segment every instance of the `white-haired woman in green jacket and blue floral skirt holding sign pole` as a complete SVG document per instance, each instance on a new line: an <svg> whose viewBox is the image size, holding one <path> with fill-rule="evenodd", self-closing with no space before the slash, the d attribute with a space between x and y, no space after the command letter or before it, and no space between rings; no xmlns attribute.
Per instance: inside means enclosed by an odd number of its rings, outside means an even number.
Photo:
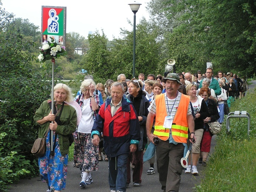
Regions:
<svg viewBox="0 0 256 192"><path fill-rule="evenodd" d="M58 83L54 87L54 109L51 109L52 100L45 100L35 112L34 123L39 126L38 137L46 137L46 152L43 157L38 158L40 178L42 182L47 182L47 192L58 192L65 189L66 174L68 167L69 140L68 135L76 129L76 111L66 102L73 99L71 89ZM55 117L51 113L54 110ZM53 123L51 123L53 121ZM51 154L50 133L53 131L53 154ZM52 166L54 165L54 166Z"/></svg>

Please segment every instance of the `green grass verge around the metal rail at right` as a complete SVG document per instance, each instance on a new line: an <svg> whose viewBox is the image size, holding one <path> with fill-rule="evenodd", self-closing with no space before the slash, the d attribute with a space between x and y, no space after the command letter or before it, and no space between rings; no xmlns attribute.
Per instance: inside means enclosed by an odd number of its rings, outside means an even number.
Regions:
<svg viewBox="0 0 256 192"><path fill-rule="evenodd" d="M226 122L217 136L214 153L209 158L204 179L196 186L199 192L256 191L256 91L232 103L231 112L246 110L251 116L250 137L247 119L231 118L231 131L226 134Z"/></svg>

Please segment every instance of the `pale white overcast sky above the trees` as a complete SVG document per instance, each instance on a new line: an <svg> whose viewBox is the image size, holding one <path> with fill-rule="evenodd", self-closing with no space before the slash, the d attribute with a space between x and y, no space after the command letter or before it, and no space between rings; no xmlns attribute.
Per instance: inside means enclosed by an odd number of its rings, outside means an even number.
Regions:
<svg viewBox="0 0 256 192"><path fill-rule="evenodd" d="M149 20L146 10L150 0L136 0L141 3L136 13L136 23L142 17ZM133 30L133 12L129 3L131 0L1 0L3 8L13 13L16 18L28 19L30 23L40 27L42 6L66 7L66 32L78 32L87 38L89 31L103 29L109 40L120 37L120 28ZM132 26L128 23L130 20Z"/></svg>

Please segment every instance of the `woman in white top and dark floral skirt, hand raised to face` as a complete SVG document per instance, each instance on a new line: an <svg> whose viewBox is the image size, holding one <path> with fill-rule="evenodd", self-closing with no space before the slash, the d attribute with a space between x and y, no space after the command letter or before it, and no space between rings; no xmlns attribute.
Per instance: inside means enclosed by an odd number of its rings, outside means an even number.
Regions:
<svg viewBox="0 0 256 192"><path fill-rule="evenodd" d="M93 182L91 171L97 171L99 164L99 148L93 145L91 137L92 126L100 108L99 96L93 94L95 87L92 79L85 79L80 86L82 94L74 99L82 111L74 147L74 167L81 171L82 180L79 185L82 188Z"/></svg>

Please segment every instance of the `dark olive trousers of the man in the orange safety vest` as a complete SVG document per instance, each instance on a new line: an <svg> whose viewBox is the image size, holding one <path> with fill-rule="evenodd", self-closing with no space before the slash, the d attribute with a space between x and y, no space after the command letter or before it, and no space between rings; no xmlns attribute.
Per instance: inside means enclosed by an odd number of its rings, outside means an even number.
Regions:
<svg viewBox="0 0 256 192"><path fill-rule="evenodd" d="M184 145L169 143L169 140L159 140L156 148L157 170L162 190L178 192L180 188L182 166L181 158L184 154Z"/></svg>

